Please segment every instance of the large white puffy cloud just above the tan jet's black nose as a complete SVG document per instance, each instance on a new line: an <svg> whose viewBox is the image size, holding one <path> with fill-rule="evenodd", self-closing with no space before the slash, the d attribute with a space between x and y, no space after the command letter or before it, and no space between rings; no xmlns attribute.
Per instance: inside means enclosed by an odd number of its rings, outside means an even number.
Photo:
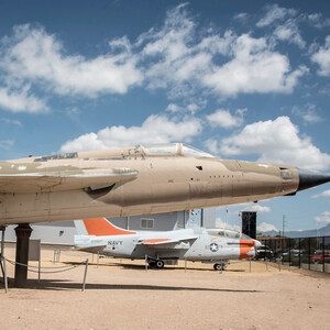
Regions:
<svg viewBox="0 0 330 330"><path fill-rule="evenodd" d="M217 147L226 155L261 154L260 162L307 169L327 169L330 165L330 155L315 146L310 138L300 138L288 117L249 124L240 133L223 139Z"/></svg>

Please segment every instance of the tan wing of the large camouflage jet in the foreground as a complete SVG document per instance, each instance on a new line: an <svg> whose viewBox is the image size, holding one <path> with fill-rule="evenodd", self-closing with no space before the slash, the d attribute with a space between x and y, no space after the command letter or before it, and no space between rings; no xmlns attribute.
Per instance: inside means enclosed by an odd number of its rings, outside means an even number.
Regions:
<svg viewBox="0 0 330 330"><path fill-rule="evenodd" d="M21 164L0 164L0 193L47 193L64 190L98 190L121 185L138 177L132 168L87 168L54 166L34 168ZM10 170L8 170L9 168Z"/></svg>

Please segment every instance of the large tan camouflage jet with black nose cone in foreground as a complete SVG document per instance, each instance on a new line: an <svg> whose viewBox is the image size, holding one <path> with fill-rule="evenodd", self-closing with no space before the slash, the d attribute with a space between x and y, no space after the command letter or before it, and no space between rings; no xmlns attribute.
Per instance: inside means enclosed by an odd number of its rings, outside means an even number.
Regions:
<svg viewBox="0 0 330 330"><path fill-rule="evenodd" d="M330 175L183 143L0 162L0 224L127 217L295 195Z"/></svg>

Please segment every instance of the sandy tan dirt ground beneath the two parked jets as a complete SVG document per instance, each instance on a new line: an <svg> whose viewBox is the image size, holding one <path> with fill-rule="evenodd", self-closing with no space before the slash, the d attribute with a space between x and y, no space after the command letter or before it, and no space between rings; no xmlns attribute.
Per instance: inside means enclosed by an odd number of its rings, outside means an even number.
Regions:
<svg viewBox="0 0 330 330"><path fill-rule="evenodd" d="M6 249L14 260L14 248ZM84 266L29 273L28 288L9 292L0 280L0 329L330 329L330 275L264 262L232 262L226 272L179 262L145 271L143 261L100 258L43 249L42 266ZM35 262L31 265L36 265ZM63 268L56 268L59 271ZM54 268L43 268L54 272Z"/></svg>

